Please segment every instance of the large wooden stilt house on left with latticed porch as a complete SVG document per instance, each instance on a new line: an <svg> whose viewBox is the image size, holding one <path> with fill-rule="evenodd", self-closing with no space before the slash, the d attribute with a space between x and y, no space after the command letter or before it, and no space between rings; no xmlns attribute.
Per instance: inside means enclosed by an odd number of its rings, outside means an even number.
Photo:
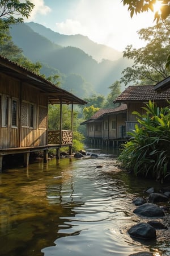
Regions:
<svg viewBox="0 0 170 256"><path fill-rule="evenodd" d="M73 105L84 105L74 94L63 90L35 73L0 56L0 170L3 156L24 154L28 166L29 154L49 148L70 147L73 144ZM48 130L48 104L60 105L60 129ZM62 105L71 105L71 130L62 130Z"/></svg>

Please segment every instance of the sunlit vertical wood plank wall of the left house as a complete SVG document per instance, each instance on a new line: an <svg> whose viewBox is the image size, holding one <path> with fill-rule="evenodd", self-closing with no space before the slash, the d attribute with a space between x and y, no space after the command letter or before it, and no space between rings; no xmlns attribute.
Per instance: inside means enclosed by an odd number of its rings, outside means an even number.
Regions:
<svg viewBox="0 0 170 256"><path fill-rule="evenodd" d="M0 95L1 95L1 114L2 110L2 95L18 100L18 126L11 127L11 122L7 127L2 126L2 116L0 118L0 148L14 148L14 147L30 147L30 146L44 146L46 145L46 118L47 118L47 105L48 98L45 94L40 93L39 90L33 88L25 82L21 82L13 77L0 74ZM36 119L35 127L23 127L22 120L19 118L20 104L22 102L28 104L35 104ZM41 106L41 107L40 107ZM11 107L10 107L11 108ZM39 108L41 108L41 117L39 118ZM42 109L44 108L44 109ZM11 110L10 110L11 115ZM22 117L22 115L21 115ZM11 117L10 117L11 118ZM20 121L20 123L19 123Z"/></svg>

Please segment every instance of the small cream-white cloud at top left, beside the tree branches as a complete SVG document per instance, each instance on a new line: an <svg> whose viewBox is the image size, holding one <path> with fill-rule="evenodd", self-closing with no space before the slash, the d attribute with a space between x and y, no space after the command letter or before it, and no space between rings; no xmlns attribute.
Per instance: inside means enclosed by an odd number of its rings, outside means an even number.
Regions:
<svg viewBox="0 0 170 256"><path fill-rule="evenodd" d="M44 0L32 0L31 2L35 5L35 7L30 13L29 21L35 20L39 14L47 15L50 13L51 9L49 6L45 5Z"/></svg>

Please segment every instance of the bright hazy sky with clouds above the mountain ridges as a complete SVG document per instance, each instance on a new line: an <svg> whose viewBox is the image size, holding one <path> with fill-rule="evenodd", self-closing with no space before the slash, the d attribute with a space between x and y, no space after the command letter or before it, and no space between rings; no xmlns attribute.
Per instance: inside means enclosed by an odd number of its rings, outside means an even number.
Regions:
<svg viewBox="0 0 170 256"><path fill-rule="evenodd" d="M137 31L154 26L154 14L134 15L121 0L30 0L34 3L29 19L59 34L88 36L95 43L124 51L132 44L145 46Z"/></svg>

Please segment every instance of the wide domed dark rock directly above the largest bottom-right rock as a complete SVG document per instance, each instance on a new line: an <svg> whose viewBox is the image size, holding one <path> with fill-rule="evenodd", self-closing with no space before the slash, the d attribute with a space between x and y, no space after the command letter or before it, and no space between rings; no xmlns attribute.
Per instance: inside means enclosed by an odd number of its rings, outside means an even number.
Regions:
<svg viewBox="0 0 170 256"><path fill-rule="evenodd" d="M133 211L135 214L147 216L147 217L162 217L164 212L156 204L146 203L140 205L138 208Z"/></svg>

